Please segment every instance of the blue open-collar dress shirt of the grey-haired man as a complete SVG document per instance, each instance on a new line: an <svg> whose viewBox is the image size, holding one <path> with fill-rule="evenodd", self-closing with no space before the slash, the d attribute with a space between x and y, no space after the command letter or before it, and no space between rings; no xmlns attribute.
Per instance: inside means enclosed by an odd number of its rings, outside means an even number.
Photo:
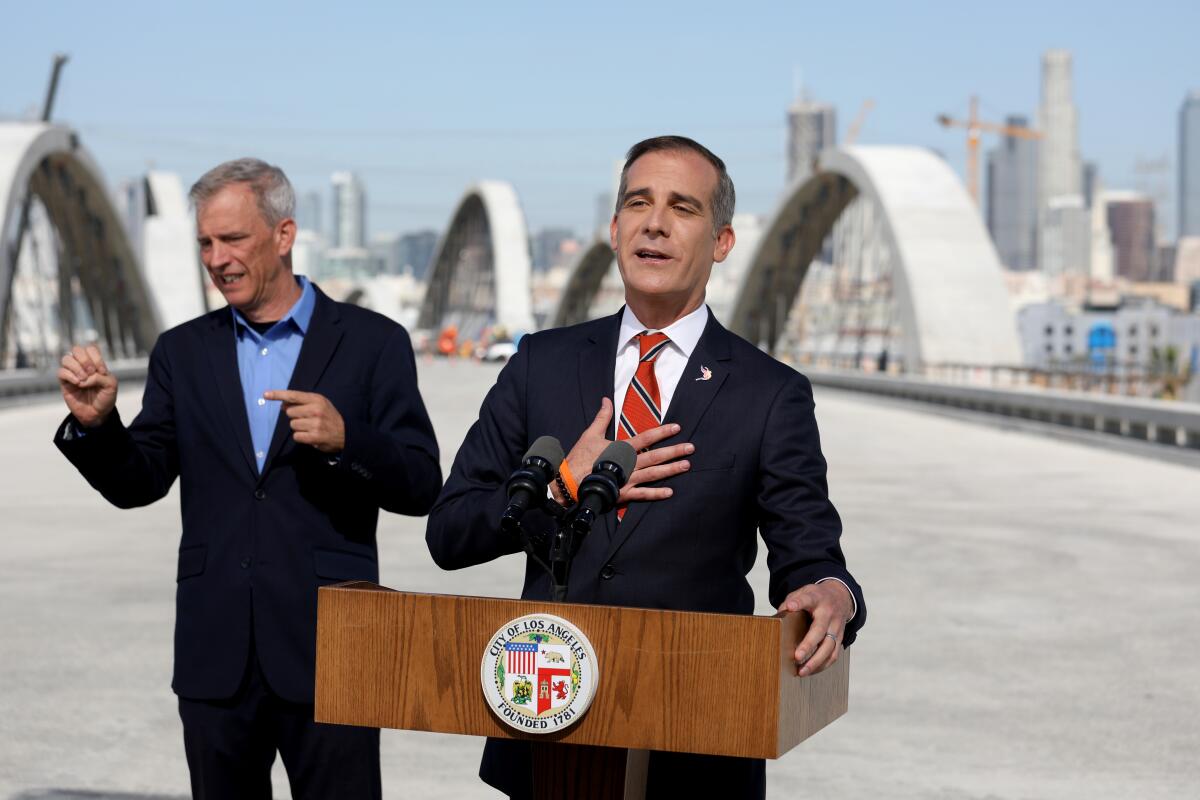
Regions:
<svg viewBox="0 0 1200 800"><path fill-rule="evenodd" d="M266 451L270 450L271 434L275 433L282 407L278 401L263 397L263 392L287 389L292 383L292 372L300 357L300 345L308 332L312 309L317 302L308 278L298 275L296 283L301 289L300 299L265 333L251 327L246 318L230 306L238 337L238 374L241 377L241 393L246 402L246 419L250 421L250 438L254 445L254 462L259 473L266 462Z"/></svg>

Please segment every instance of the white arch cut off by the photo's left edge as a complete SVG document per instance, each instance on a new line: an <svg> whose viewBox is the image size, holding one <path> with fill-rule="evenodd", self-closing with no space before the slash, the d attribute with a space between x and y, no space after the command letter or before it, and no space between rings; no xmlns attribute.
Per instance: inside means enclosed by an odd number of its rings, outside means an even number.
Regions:
<svg viewBox="0 0 1200 800"><path fill-rule="evenodd" d="M60 271L78 281L101 338L114 355L148 353L161 318L100 168L64 126L0 124L0 315L11 307L20 218L31 196L58 231L66 257ZM64 326L72 335L70 319ZM0 354L6 335L7 324L0 324Z"/></svg>

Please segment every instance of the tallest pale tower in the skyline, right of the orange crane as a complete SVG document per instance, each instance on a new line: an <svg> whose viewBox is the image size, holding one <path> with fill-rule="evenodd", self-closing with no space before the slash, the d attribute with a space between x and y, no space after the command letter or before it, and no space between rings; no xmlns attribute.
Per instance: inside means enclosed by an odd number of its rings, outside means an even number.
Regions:
<svg viewBox="0 0 1200 800"><path fill-rule="evenodd" d="M1070 209L1086 209L1084 169L1079 160L1079 121L1072 100L1070 53L1046 50L1042 55L1042 103L1038 107L1042 143L1038 154L1038 265L1062 273L1086 264L1091 249L1090 225ZM1080 231L1048 229L1055 224L1081 224ZM1081 252L1069 248L1079 241ZM1062 249L1062 248L1068 249ZM1051 252L1052 251L1052 252Z"/></svg>

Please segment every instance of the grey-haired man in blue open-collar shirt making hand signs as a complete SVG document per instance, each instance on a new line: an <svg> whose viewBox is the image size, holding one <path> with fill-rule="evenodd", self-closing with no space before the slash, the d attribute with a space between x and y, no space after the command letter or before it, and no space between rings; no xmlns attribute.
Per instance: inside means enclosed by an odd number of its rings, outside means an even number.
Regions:
<svg viewBox="0 0 1200 800"><path fill-rule="evenodd" d="M317 588L378 581L379 509L424 515L442 483L404 330L292 273L295 199L262 161L192 187L200 258L228 308L163 333L142 413L74 347L55 444L114 505L180 479L175 674L196 798L378 798L379 732L313 722ZM282 411L282 413L281 413Z"/></svg>

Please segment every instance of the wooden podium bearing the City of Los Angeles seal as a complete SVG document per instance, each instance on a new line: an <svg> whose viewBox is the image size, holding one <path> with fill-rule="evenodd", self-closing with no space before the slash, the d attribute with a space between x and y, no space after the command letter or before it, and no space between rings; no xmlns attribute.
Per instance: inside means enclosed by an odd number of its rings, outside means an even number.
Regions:
<svg viewBox="0 0 1200 800"><path fill-rule="evenodd" d="M600 664L590 709L548 736L500 722L480 688L492 634L532 613L582 630ZM366 582L323 587L316 718L527 739L535 742L538 796L640 798L650 750L779 758L846 712L848 654L817 675L796 676L792 654L806 626L803 614L425 595Z"/></svg>

